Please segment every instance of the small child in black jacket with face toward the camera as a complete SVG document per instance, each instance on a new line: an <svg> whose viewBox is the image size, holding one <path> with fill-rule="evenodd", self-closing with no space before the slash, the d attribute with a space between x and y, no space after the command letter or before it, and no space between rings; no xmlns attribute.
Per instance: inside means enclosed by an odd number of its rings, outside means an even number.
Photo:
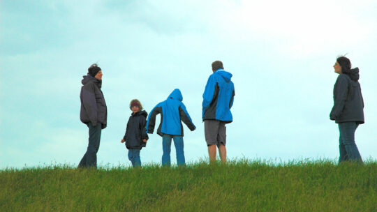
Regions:
<svg viewBox="0 0 377 212"><path fill-rule="evenodd" d="M148 140L147 130L145 129L148 114L145 110L142 110L142 104L137 99L131 100L130 109L132 114L128 119L126 133L121 139L121 143L126 142L128 159L132 166L140 167L140 150L145 147Z"/></svg>

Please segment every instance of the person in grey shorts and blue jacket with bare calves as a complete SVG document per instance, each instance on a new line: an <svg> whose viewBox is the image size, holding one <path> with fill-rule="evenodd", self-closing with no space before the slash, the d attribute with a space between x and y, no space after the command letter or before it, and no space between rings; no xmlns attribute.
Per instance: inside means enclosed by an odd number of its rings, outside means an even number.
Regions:
<svg viewBox="0 0 377 212"><path fill-rule="evenodd" d="M208 146L209 160L216 160L216 146L221 162L226 162L226 123L232 122L230 108L233 105L235 86L230 80L231 73L223 68L221 61L212 63L203 93L202 120L205 123L205 141Z"/></svg>

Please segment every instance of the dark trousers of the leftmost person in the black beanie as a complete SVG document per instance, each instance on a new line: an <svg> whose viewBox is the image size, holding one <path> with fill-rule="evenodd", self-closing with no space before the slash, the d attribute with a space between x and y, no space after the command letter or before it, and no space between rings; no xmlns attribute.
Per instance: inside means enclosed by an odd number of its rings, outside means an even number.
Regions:
<svg viewBox="0 0 377 212"><path fill-rule="evenodd" d="M101 140L102 124L97 123L93 126L91 122L87 124L89 128L89 144L87 152L82 157L78 167L97 167L97 152Z"/></svg>

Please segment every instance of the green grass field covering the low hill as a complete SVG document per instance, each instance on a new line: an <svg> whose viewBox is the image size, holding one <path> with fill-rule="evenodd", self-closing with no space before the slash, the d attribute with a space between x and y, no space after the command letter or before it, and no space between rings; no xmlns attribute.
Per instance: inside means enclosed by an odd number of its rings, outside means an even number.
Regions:
<svg viewBox="0 0 377 212"><path fill-rule="evenodd" d="M0 211L377 211L377 162L3 169Z"/></svg>

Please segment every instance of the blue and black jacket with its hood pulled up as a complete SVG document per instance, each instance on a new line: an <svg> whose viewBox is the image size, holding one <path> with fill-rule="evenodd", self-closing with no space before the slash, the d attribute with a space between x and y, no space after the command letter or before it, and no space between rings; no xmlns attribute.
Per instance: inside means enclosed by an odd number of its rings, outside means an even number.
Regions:
<svg viewBox="0 0 377 212"><path fill-rule="evenodd" d="M179 89L175 89L170 93L168 99L158 103L154 109L151 110L147 120L147 132L153 133L154 125L156 123L156 115L161 114L160 126L158 126L157 134L163 136L180 135L183 136L183 126L181 120L191 130L195 130L195 125L191 121L184 103L182 103L183 96Z"/></svg>

